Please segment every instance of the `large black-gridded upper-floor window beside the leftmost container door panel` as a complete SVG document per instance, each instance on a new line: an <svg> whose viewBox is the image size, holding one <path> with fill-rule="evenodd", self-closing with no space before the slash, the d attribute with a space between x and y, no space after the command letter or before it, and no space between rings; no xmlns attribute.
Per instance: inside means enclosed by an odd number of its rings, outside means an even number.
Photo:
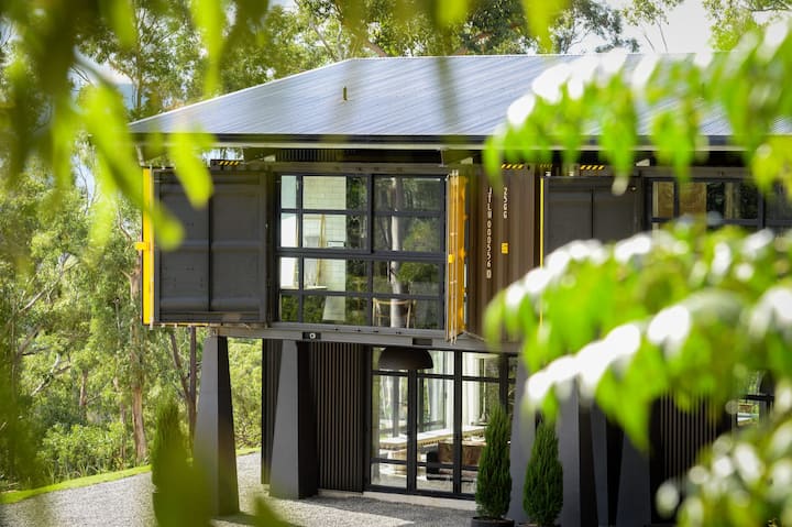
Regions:
<svg viewBox="0 0 792 527"><path fill-rule="evenodd" d="M280 288L297 321L443 328L443 177L288 174L280 185ZM370 210L375 186L382 211Z"/></svg>

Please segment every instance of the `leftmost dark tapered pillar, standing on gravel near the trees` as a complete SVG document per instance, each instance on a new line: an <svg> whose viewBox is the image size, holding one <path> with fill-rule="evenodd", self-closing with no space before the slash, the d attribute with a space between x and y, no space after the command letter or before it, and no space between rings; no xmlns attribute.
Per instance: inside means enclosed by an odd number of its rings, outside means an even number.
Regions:
<svg viewBox="0 0 792 527"><path fill-rule="evenodd" d="M226 337L212 336L204 341L193 450L196 466L207 481L212 513L217 516L238 513L237 448Z"/></svg>

